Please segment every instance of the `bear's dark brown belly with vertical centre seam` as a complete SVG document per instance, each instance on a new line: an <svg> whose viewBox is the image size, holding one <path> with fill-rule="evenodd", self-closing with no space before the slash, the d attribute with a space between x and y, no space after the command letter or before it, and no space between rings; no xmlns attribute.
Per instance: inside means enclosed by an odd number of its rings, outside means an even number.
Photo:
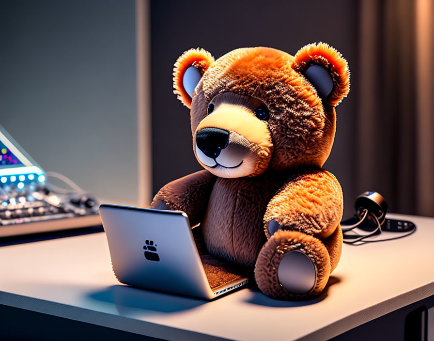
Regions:
<svg viewBox="0 0 434 341"><path fill-rule="evenodd" d="M286 179L285 179L286 180ZM211 255L253 269L265 242L262 229L265 208L284 182L282 174L223 179L211 192L202 234Z"/></svg>

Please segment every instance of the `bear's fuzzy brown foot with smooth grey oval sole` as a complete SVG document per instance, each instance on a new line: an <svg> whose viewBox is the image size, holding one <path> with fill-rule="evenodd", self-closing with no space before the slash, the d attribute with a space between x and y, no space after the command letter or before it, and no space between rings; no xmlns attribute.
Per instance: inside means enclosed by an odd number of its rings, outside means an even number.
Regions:
<svg viewBox="0 0 434 341"><path fill-rule="evenodd" d="M259 289L278 299L320 294L330 275L327 248L311 235L279 230L261 249L255 266Z"/></svg>

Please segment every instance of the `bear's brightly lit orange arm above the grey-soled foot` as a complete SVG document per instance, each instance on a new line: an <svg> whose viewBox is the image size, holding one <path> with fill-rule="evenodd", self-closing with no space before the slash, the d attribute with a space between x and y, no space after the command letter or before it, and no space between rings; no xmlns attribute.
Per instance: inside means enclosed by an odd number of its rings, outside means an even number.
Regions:
<svg viewBox="0 0 434 341"><path fill-rule="evenodd" d="M342 189L328 171L311 170L291 178L267 205L267 237L278 229L300 231L324 239L339 226L343 211Z"/></svg>

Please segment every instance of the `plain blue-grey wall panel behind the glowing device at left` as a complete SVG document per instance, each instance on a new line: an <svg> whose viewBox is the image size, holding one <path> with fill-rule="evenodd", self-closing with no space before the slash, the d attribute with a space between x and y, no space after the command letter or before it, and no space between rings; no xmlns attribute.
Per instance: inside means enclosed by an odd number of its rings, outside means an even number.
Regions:
<svg viewBox="0 0 434 341"><path fill-rule="evenodd" d="M46 171L136 203L134 0L2 0L0 124Z"/></svg>

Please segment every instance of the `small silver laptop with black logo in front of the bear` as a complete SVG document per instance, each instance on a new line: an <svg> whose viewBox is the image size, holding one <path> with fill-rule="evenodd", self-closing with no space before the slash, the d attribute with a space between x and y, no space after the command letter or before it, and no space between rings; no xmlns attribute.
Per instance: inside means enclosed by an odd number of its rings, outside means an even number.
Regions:
<svg viewBox="0 0 434 341"><path fill-rule="evenodd" d="M113 272L124 284L213 299L248 282L248 278L239 274L233 274L229 282L218 286L215 278L208 281L205 268L213 265L202 264L184 212L109 204L102 204L99 212ZM209 258L207 255L202 260ZM211 272L215 277L216 271Z"/></svg>

